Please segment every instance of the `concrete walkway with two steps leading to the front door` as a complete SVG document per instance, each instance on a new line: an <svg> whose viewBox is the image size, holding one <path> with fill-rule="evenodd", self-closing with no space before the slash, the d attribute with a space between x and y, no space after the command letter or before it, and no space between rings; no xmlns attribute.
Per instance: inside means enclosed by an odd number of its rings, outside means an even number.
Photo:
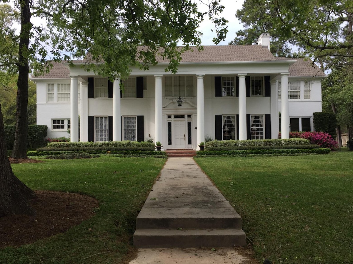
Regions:
<svg viewBox="0 0 353 264"><path fill-rule="evenodd" d="M136 219L134 246L246 246L241 218L192 158L168 158Z"/></svg>

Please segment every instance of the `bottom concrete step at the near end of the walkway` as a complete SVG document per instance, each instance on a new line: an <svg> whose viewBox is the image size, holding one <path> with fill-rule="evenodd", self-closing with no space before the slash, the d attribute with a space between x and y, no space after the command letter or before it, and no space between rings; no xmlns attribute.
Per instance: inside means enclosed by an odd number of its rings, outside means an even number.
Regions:
<svg viewBox="0 0 353 264"><path fill-rule="evenodd" d="M138 248L233 247L246 246L241 229L138 229L134 233Z"/></svg>

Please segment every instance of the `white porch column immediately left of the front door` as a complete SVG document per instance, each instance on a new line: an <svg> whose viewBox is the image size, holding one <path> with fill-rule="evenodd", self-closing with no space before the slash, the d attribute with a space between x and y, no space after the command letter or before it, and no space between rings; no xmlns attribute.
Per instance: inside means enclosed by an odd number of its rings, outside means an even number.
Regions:
<svg viewBox="0 0 353 264"><path fill-rule="evenodd" d="M162 142L162 75L155 75L155 142Z"/></svg>

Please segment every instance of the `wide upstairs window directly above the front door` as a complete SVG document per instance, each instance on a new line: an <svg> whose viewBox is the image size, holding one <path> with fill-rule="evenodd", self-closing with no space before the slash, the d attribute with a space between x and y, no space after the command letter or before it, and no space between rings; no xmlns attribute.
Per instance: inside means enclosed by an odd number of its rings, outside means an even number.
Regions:
<svg viewBox="0 0 353 264"><path fill-rule="evenodd" d="M164 87L166 96L193 96L194 78L193 76L166 76Z"/></svg>

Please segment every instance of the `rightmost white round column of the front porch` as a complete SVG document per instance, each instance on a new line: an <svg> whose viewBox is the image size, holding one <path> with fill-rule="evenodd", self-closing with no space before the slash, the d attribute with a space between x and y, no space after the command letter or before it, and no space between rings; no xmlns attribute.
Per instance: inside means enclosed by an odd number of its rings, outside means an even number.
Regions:
<svg viewBox="0 0 353 264"><path fill-rule="evenodd" d="M288 73L281 73L281 135L289 138Z"/></svg>

